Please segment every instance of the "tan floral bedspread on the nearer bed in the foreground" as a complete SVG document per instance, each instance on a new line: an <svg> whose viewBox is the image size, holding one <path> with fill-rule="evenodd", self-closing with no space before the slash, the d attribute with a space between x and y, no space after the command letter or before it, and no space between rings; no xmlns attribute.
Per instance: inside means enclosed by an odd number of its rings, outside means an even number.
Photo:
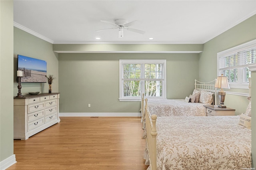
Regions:
<svg viewBox="0 0 256 170"><path fill-rule="evenodd" d="M250 168L251 130L239 117L158 117L157 170Z"/></svg>

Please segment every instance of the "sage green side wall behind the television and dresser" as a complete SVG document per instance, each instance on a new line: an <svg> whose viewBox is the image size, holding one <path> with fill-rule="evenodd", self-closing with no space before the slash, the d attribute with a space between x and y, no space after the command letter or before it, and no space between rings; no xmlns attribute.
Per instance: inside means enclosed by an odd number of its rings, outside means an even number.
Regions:
<svg viewBox="0 0 256 170"><path fill-rule="evenodd" d="M25 55L32 58L47 61L47 75L52 74L56 79L52 83L52 92L59 91L58 85L58 53L52 51L52 43L46 42L32 34L14 27L14 88L13 95L18 93L17 76L17 55ZM22 83L22 95L28 92L40 91L48 93L48 83Z"/></svg>

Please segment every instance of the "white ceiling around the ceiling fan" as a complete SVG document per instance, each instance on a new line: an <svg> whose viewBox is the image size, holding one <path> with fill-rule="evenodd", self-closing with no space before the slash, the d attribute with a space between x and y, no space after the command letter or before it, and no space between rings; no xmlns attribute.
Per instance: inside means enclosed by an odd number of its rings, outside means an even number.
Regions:
<svg viewBox="0 0 256 170"><path fill-rule="evenodd" d="M205 43L254 14L256 0L14 0L14 26L51 43ZM96 32L116 19L146 33Z"/></svg>

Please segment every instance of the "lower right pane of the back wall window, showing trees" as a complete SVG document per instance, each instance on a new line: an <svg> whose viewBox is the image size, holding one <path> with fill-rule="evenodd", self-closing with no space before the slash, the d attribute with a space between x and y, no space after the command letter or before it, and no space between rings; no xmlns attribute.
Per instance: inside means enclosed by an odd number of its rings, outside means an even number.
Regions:
<svg viewBox="0 0 256 170"><path fill-rule="evenodd" d="M145 96L162 96L162 81L145 81Z"/></svg>

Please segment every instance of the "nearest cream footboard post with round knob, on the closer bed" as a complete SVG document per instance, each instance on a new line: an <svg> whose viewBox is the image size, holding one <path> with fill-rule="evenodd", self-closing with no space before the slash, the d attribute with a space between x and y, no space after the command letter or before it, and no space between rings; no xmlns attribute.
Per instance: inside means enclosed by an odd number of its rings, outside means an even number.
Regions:
<svg viewBox="0 0 256 170"><path fill-rule="evenodd" d="M151 152L150 152L150 159L151 159L151 170L156 170L156 136L157 136L157 131L156 131L156 115L151 116L152 119L152 130L151 130Z"/></svg>

